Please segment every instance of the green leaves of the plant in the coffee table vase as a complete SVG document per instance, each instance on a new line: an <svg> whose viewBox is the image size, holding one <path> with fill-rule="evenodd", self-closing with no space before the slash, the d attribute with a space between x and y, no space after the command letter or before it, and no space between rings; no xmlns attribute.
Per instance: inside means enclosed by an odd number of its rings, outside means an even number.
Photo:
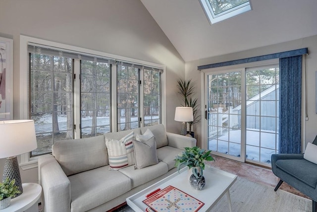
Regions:
<svg viewBox="0 0 317 212"><path fill-rule="evenodd" d="M199 147L185 147L185 151L175 157L175 167L177 167L178 172L180 168L185 166L193 168L193 174L200 178L203 176L203 170L205 169L205 160L214 160L211 156L211 150L206 151Z"/></svg>

